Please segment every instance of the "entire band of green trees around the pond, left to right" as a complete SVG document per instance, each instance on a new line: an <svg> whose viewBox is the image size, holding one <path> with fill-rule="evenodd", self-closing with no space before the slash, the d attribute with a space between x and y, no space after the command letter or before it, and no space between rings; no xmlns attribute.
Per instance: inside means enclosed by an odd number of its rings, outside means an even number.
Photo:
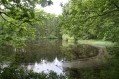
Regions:
<svg viewBox="0 0 119 79"><path fill-rule="evenodd" d="M19 46L35 38L100 39L118 42L118 0L70 0L60 16L36 10L50 0L1 0L0 43Z"/></svg>

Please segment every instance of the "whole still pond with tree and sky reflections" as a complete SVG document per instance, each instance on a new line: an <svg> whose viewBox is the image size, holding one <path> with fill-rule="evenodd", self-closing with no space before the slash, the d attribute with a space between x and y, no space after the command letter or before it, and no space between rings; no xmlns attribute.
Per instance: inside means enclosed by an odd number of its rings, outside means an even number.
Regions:
<svg viewBox="0 0 119 79"><path fill-rule="evenodd" d="M64 45L65 43L65 45ZM108 53L105 47L72 44L61 40L43 39L28 43L24 48L10 46L0 48L1 69L17 65L36 73L73 75L85 69L99 69L106 65ZM74 77L78 79L75 73Z"/></svg>

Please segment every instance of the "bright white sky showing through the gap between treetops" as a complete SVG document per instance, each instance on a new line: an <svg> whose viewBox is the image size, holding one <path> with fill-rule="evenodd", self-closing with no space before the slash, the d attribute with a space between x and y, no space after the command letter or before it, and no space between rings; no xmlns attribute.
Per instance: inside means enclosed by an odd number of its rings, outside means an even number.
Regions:
<svg viewBox="0 0 119 79"><path fill-rule="evenodd" d="M52 1L53 1L53 5L43 8L43 10L47 13L60 15L62 13L62 8L60 6L60 3L65 4L68 2L68 0L52 0Z"/></svg>

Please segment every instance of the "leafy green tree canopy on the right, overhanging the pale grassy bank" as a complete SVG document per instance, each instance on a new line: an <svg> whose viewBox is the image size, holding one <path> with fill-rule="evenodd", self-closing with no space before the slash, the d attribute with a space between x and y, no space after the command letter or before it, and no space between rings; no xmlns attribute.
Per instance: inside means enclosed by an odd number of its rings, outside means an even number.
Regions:
<svg viewBox="0 0 119 79"><path fill-rule="evenodd" d="M70 0L64 6L62 27L74 38L119 39L118 0Z"/></svg>

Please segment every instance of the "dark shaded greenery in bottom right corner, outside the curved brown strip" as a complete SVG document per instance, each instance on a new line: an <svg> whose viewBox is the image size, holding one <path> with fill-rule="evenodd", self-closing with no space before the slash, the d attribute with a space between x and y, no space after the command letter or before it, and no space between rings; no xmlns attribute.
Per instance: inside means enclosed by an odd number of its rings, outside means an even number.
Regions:
<svg viewBox="0 0 119 79"><path fill-rule="evenodd" d="M107 48L113 55L107 65L90 68L64 68L68 79L118 79L119 78L119 47Z"/></svg>

